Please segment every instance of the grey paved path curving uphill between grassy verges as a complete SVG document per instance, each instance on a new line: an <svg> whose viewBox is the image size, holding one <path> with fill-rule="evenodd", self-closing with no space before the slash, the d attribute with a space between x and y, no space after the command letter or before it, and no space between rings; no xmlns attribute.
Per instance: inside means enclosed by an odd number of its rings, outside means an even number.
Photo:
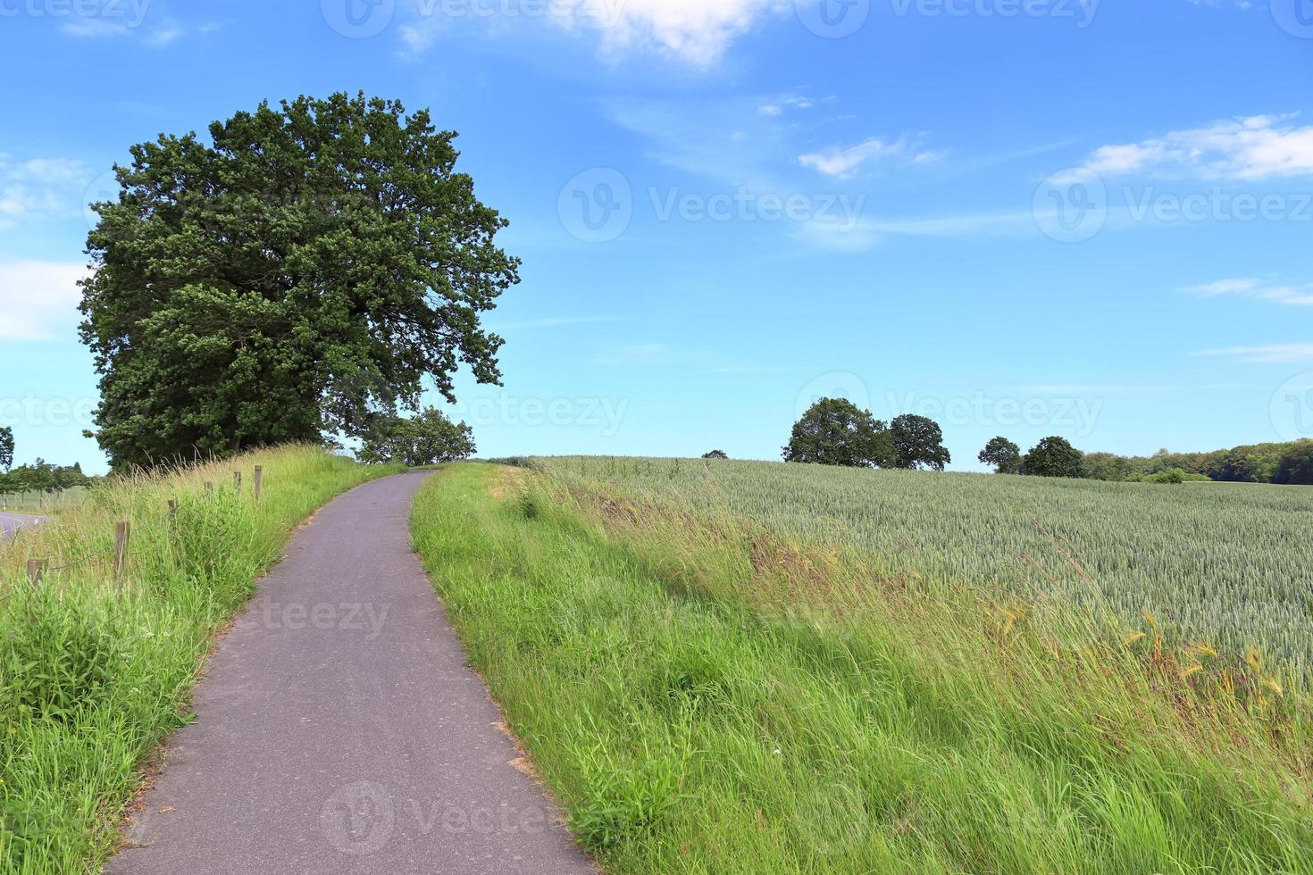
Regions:
<svg viewBox="0 0 1313 875"><path fill-rule="evenodd" d="M512 767L411 554L425 476L358 487L293 538L108 871L595 871Z"/></svg>

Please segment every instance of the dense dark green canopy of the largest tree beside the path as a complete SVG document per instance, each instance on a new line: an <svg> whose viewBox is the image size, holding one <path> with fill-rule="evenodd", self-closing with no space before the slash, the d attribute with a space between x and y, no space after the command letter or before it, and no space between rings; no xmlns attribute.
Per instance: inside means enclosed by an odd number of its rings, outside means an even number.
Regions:
<svg viewBox="0 0 1313 875"><path fill-rule="evenodd" d="M119 199L93 207L81 337L116 467L360 436L427 379L453 400L460 363L500 382L481 314L519 260L454 132L344 93L209 132L133 147Z"/></svg>

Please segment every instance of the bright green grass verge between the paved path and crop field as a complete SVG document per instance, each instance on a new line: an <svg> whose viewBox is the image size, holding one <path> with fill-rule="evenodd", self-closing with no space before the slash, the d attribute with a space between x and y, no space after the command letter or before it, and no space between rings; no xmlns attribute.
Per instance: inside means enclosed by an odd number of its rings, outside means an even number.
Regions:
<svg viewBox="0 0 1313 875"><path fill-rule="evenodd" d="M731 518L508 476L433 478L416 546L609 871L1313 871L1280 706Z"/></svg>

